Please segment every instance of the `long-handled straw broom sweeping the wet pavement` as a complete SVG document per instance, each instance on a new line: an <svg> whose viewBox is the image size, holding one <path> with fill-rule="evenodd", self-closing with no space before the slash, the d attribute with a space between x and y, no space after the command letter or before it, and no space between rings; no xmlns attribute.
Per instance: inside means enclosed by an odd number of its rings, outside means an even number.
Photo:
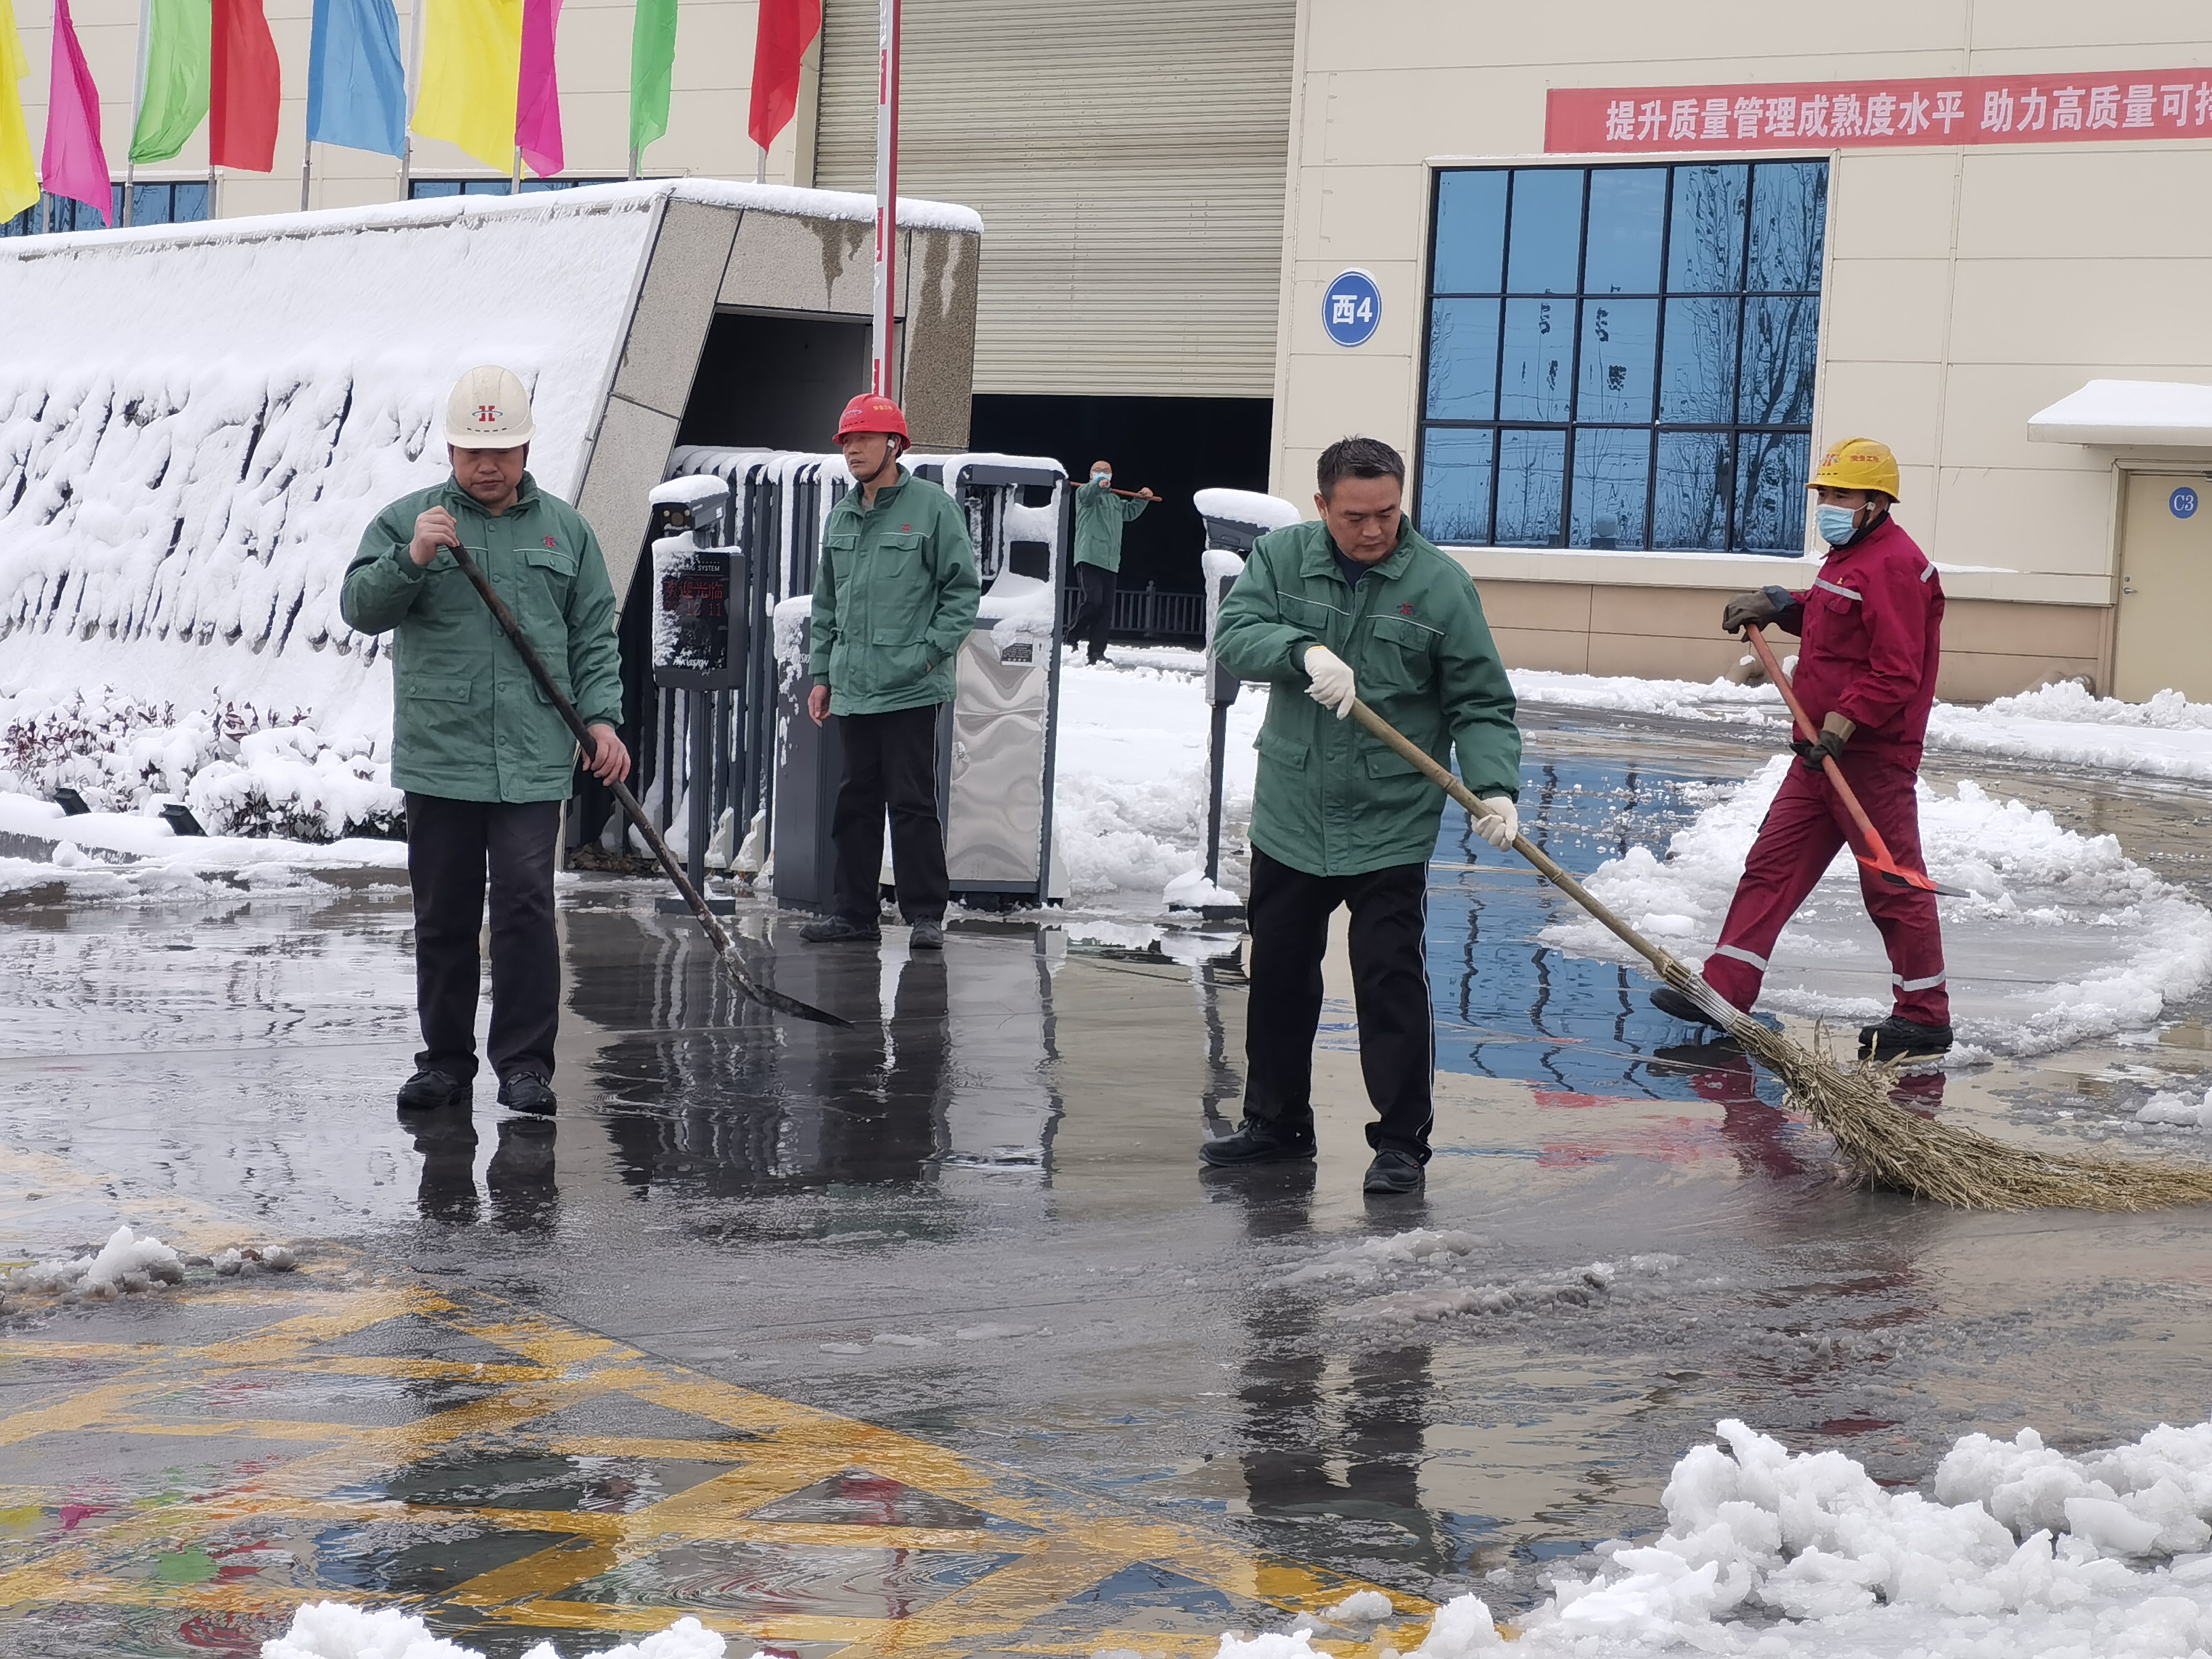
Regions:
<svg viewBox="0 0 2212 1659"><path fill-rule="evenodd" d="M1469 816L1489 816L1449 768L1367 703L1354 699L1352 717L1420 768L1431 783L1467 807ZM1896 1188L1960 1210L2166 1210L2212 1203L2212 1168L2035 1152L1905 1110L1889 1099L1891 1066L1871 1062L1845 1066L1825 1048L1805 1048L1781 1031L1759 1024L1705 984L1703 975L1679 956L1652 945L1593 898L1528 836L1515 836L1513 852L1604 922L1615 938L1650 962L1661 980L1697 1002L1743 1044L1745 1053L1781 1077L1787 1104L1836 1141L1851 1181Z"/></svg>

